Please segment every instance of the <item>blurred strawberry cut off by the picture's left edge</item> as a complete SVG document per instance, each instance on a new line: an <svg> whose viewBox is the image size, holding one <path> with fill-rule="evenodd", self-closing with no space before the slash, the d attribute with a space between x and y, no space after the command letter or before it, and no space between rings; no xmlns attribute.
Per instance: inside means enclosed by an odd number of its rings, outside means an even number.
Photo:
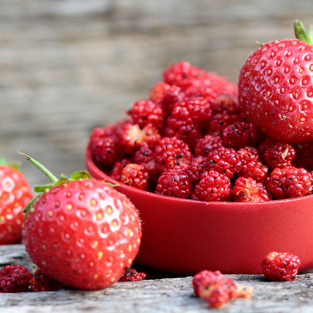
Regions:
<svg viewBox="0 0 313 313"><path fill-rule="evenodd" d="M28 183L17 163L0 158L0 244L21 241L23 208L32 198Z"/></svg>

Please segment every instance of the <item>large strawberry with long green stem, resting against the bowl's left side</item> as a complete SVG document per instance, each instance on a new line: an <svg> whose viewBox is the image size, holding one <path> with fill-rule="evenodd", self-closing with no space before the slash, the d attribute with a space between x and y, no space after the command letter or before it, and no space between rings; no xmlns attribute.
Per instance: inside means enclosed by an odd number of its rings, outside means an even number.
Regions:
<svg viewBox="0 0 313 313"><path fill-rule="evenodd" d="M134 205L109 184L75 172L35 186L42 192L28 203L23 239L31 259L51 278L79 289L112 285L135 258L141 225Z"/></svg>

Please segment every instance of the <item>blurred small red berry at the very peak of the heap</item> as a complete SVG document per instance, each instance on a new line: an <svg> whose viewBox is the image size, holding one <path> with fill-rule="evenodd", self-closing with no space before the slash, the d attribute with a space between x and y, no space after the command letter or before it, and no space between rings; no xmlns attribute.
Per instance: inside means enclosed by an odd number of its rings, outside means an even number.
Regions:
<svg viewBox="0 0 313 313"><path fill-rule="evenodd" d="M169 85L176 85L182 90L192 85L193 80L201 79L205 74L203 69L191 66L189 62L182 61L174 63L165 69L163 73L164 81Z"/></svg>

